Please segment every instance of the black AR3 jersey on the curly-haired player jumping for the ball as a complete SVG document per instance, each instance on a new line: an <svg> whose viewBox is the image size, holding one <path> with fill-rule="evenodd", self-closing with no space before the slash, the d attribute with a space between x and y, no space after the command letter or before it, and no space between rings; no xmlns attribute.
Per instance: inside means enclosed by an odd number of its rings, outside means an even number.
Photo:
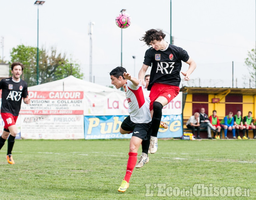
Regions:
<svg viewBox="0 0 256 200"><path fill-rule="evenodd" d="M184 49L171 44L168 44L165 50L156 51L152 47L149 48L143 62L147 66L152 65L148 90L153 83L179 86L181 61L187 62L188 59L189 55Z"/></svg>

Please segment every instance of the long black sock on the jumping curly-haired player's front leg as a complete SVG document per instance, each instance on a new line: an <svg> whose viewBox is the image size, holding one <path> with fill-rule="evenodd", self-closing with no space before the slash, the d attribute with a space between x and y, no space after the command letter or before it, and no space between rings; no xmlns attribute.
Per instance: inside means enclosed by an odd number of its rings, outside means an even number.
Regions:
<svg viewBox="0 0 256 200"><path fill-rule="evenodd" d="M152 134L151 136L157 137L159 125L162 117L163 105L157 101L153 103L153 116L152 116Z"/></svg>

